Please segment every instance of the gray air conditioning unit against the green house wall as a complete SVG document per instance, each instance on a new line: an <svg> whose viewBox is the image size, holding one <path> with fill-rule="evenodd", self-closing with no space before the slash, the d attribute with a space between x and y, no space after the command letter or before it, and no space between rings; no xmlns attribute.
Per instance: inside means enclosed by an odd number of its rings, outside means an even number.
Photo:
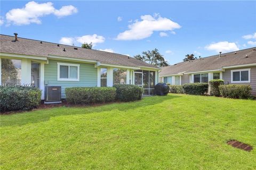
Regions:
<svg viewBox="0 0 256 170"><path fill-rule="evenodd" d="M61 87L46 86L44 104L55 104L55 103L61 103Z"/></svg>

